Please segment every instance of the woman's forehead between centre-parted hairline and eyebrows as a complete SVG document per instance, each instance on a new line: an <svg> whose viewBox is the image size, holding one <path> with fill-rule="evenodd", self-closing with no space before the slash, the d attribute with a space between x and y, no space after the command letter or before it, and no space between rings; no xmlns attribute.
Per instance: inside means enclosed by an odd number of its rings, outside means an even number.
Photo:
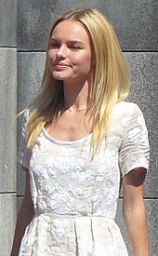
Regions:
<svg viewBox="0 0 158 256"><path fill-rule="evenodd" d="M57 24L52 31L51 37L57 39L69 38L69 40L84 40L89 42L89 36L86 29L79 21L63 20Z"/></svg>

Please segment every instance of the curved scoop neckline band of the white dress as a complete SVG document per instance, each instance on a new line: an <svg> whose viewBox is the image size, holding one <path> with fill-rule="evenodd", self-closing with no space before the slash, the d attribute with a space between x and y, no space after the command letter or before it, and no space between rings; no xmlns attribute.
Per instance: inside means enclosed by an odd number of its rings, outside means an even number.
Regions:
<svg viewBox="0 0 158 256"><path fill-rule="evenodd" d="M85 143L90 143L91 141L91 137L92 137L92 133L87 134L85 137L75 140L75 141L60 141L58 139L53 138L47 131L46 128L42 128L43 134L45 135L46 139L48 141L52 141L55 144L60 144L60 145L79 145L79 144L83 144L83 142Z"/></svg>

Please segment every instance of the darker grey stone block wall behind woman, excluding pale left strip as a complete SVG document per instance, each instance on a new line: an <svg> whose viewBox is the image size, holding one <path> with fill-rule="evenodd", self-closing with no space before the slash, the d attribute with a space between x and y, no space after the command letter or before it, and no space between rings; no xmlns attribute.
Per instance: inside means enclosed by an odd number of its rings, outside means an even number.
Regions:
<svg viewBox="0 0 158 256"><path fill-rule="evenodd" d="M112 21L129 61L133 75L130 101L138 103L146 118L151 144L151 165L146 179L145 201L148 212L151 240L151 256L157 256L158 234L158 13L156 0L107 0L107 1L50 1L21 0L18 4L18 70L19 109L31 101L41 87L44 70L46 35L51 20L59 12L70 7L97 7ZM19 170L19 204L23 195L23 173ZM122 196L120 196L117 222L125 236L125 226L121 217Z"/></svg>

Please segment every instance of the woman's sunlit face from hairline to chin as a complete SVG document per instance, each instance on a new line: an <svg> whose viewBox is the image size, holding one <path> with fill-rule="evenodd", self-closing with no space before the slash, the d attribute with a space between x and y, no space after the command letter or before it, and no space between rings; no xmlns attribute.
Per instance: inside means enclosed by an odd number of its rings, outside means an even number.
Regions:
<svg viewBox="0 0 158 256"><path fill-rule="evenodd" d="M64 20L54 28L48 65L57 80L88 79L91 70L91 47L86 29L78 21Z"/></svg>

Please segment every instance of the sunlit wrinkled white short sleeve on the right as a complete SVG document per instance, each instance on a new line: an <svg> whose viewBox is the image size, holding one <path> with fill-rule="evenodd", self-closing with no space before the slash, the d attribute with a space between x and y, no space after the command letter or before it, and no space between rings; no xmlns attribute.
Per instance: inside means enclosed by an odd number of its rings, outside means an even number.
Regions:
<svg viewBox="0 0 158 256"><path fill-rule="evenodd" d="M134 168L148 169L149 158L148 130L138 105L134 104L119 152L119 167L122 177Z"/></svg>

